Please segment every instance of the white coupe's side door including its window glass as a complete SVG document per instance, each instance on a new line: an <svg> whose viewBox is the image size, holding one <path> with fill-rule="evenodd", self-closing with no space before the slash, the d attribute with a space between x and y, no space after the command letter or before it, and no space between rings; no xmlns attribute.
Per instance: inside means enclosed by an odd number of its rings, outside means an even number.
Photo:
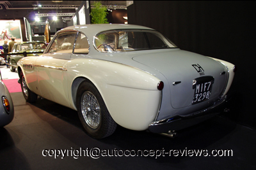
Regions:
<svg viewBox="0 0 256 170"><path fill-rule="evenodd" d="M67 64L73 52L77 32L60 32L46 53L36 59L40 96L70 106L67 92Z"/></svg>

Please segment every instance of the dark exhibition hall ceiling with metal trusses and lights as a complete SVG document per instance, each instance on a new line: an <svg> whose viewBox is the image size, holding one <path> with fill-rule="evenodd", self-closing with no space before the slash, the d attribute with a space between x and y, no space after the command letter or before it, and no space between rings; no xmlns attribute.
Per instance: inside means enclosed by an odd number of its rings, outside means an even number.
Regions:
<svg viewBox="0 0 256 170"><path fill-rule="evenodd" d="M0 19L29 18L31 12L35 17L62 17L63 22L71 20L83 1L0 1ZM94 8L90 1L91 8ZM109 10L127 9L127 1L100 1ZM22 16L24 15L24 16ZM33 23L31 23L33 24Z"/></svg>

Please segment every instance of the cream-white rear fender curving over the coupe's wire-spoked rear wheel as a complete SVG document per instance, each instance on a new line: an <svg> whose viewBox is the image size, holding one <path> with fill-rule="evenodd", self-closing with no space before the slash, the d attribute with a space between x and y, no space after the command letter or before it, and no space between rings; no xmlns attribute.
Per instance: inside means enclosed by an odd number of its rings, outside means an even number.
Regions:
<svg viewBox="0 0 256 170"><path fill-rule="evenodd" d="M156 118L161 103L161 91L157 90L160 80L156 76L136 67L97 59L71 60L70 71L72 81L78 77L92 81L117 124L143 131Z"/></svg>

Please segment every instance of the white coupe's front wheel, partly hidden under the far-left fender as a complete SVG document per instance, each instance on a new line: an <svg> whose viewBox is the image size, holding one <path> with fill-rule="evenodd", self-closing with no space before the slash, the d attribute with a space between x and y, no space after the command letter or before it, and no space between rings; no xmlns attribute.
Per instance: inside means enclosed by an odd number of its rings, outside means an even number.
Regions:
<svg viewBox="0 0 256 170"><path fill-rule="evenodd" d="M20 87L27 102L34 103L37 100L37 94L28 89L27 82L22 72L20 72Z"/></svg>

